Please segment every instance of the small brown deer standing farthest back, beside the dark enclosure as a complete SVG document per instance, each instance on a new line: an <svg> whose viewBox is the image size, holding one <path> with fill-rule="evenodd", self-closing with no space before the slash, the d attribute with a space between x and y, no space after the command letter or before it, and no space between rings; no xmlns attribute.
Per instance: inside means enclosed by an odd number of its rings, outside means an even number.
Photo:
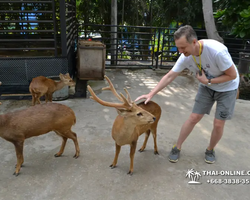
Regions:
<svg viewBox="0 0 250 200"><path fill-rule="evenodd" d="M67 74L59 75L60 81L54 81L50 78L44 76L38 76L32 79L29 91L32 95L32 105L34 106L37 103L41 103L40 97L45 95L46 103L48 101L52 102L52 95L55 91L62 89L64 86L75 86L75 82Z"/></svg>

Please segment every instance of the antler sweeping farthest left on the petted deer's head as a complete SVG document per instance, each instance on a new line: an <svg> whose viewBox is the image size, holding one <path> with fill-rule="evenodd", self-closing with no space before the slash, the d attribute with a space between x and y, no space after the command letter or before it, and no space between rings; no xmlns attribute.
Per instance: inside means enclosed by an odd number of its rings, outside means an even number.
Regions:
<svg viewBox="0 0 250 200"><path fill-rule="evenodd" d="M112 103L112 102L103 101L100 98L98 98L89 85L88 85L88 91L92 95L90 98L95 100L96 102L98 102L99 104L103 106L131 109L131 105L129 104L129 102L127 101L127 99L124 97L123 94L121 94L121 97L120 97L121 99L119 99L123 103Z"/></svg>

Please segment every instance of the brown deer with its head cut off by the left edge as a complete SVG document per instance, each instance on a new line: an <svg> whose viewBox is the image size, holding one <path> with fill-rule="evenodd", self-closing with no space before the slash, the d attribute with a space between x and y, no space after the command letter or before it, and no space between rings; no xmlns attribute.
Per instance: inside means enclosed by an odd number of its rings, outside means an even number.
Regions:
<svg viewBox="0 0 250 200"><path fill-rule="evenodd" d="M13 175L18 176L24 162L24 140L50 131L55 131L63 139L61 148L55 157L62 155L67 139L70 138L75 144L74 158L78 158L80 149L77 135L71 131L71 127L75 123L76 117L73 110L58 103L39 104L0 115L0 136L13 143L16 149L17 164Z"/></svg>

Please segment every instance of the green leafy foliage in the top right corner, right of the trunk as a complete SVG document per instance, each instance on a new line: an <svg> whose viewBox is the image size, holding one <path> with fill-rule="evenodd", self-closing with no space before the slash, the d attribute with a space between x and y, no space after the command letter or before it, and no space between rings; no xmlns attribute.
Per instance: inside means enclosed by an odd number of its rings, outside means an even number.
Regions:
<svg viewBox="0 0 250 200"><path fill-rule="evenodd" d="M218 0L218 10L214 14L222 29L227 29L232 35L250 38L250 1Z"/></svg>

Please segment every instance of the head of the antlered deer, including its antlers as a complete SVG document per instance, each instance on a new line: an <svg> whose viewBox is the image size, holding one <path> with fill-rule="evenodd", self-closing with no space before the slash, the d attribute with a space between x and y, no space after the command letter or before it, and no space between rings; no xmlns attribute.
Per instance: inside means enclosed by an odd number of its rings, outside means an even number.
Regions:
<svg viewBox="0 0 250 200"><path fill-rule="evenodd" d="M117 99L122 103L113 103L101 100L96 96L92 88L88 85L88 91L92 95L90 97L91 99L94 99L96 102L103 106L116 108L118 114L124 117L125 119L130 120L131 123L143 125L153 123L155 121L154 115L137 106L134 102L131 101L131 97L127 89L124 89L127 94L127 97L125 97L122 93L119 95L109 78L107 76L105 76L105 78L109 83L109 87L102 88L102 90L111 90L112 93L117 97Z"/></svg>

